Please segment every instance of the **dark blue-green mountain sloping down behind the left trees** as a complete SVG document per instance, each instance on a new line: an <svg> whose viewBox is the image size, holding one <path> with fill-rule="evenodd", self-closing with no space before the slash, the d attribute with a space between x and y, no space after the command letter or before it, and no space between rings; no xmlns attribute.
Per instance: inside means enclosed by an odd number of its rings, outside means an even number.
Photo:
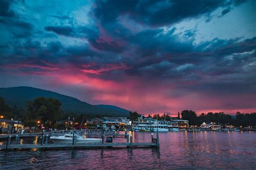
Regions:
<svg viewBox="0 0 256 170"><path fill-rule="evenodd" d="M33 87L0 88L0 96L4 97L6 104L10 106L16 105L17 108L21 109L25 109L26 101L33 101L36 97L53 97L62 103L61 108L65 112L112 116L129 115L129 112L126 112L126 110L122 108L115 106L102 107L102 105L92 105L74 97Z"/></svg>

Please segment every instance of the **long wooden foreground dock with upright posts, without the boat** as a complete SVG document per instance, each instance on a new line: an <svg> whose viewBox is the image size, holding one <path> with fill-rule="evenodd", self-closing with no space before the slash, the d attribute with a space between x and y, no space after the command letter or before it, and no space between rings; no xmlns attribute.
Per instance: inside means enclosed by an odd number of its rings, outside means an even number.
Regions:
<svg viewBox="0 0 256 170"><path fill-rule="evenodd" d="M6 145L0 145L0 151L9 151L9 150L30 150L32 148L40 149L56 149L56 148L120 148L120 147L159 147L159 136L157 134L156 138L151 134L150 143L133 143L132 135L127 135L126 143L85 143L85 144L76 144L76 138L73 138L72 144L49 144L48 143L48 134L42 137L41 144L19 144L17 138L15 139L15 144L11 144L11 136L9 136ZM44 140L45 139L45 140Z"/></svg>

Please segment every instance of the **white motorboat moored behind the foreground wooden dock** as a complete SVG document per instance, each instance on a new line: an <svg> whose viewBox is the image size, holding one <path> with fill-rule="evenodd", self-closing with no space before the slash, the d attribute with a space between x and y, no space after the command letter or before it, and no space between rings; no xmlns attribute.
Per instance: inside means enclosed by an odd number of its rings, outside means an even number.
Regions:
<svg viewBox="0 0 256 170"><path fill-rule="evenodd" d="M75 134L73 134L75 133ZM85 144L85 143L102 143L102 139L99 138L85 138L84 134L79 135L75 130L70 131L63 136L52 136L50 137L51 141L54 144L72 144L73 143L73 136L76 136L77 144Z"/></svg>

